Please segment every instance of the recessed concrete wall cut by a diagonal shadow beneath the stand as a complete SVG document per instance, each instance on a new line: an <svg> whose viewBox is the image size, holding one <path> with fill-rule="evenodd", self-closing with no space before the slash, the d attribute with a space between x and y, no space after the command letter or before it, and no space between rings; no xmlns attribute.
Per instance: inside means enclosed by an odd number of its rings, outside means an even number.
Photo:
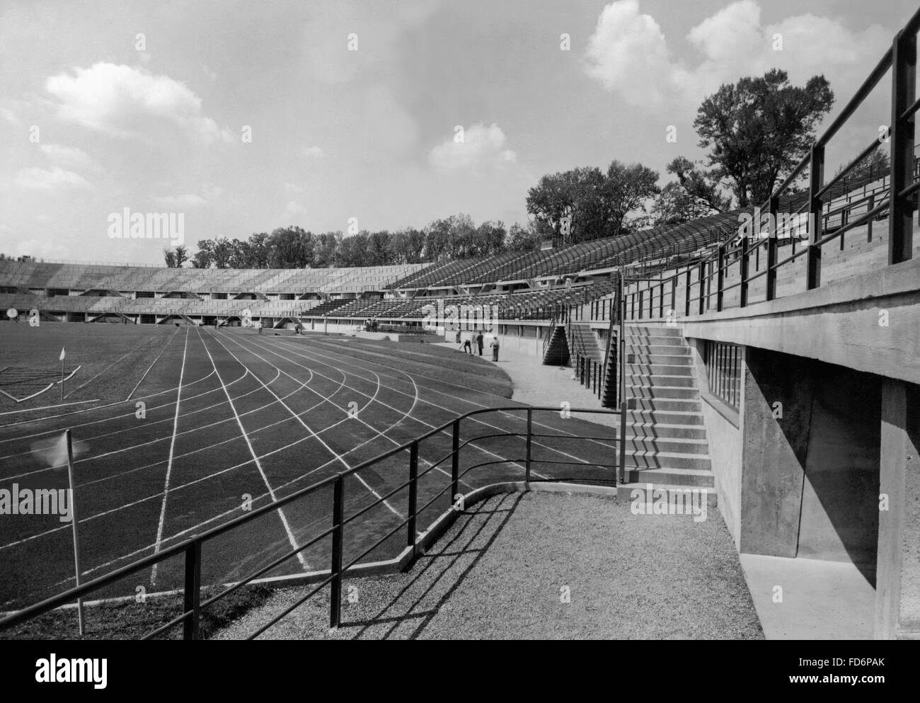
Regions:
<svg viewBox="0 0 920 703"><path fill-rule="evenodd" d="M881 379L759 349L746 357L742 552L851 560L874 580Z"/></svg>

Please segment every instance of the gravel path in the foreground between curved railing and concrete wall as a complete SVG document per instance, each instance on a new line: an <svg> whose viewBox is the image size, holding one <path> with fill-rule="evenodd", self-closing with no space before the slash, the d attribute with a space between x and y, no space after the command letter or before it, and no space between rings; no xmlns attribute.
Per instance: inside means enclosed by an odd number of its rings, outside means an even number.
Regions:
<svg viewBox="0 0 920 703"><path fill-rule="evenodd" d="M328 631L324 589L262 637L764 638L715 510L696 523L587 495L495 496L468 508L407 573L346 581L343 591L351 602L338 631ZM218 638L245 636L304 593L276 592Z"/></svg>

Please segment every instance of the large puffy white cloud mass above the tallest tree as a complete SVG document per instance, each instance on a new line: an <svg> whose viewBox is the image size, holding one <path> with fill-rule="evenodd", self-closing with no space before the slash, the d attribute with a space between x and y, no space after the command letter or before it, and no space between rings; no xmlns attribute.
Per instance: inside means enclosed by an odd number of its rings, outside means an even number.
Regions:
<svg viewBox="0 0 920 703"><path fill-rule="evenodd" d="M781 35L782 50L775 51ZM695 109L719 85L771 68L793 83L823 74L838 98L846 98L875 65L890 38L878 25L850 30L811 14L761 24L761 8L741 0L690 29L686 40L700 53L694 67L673 60L661 27L639 11L637 0L604 7L588 40L584 70L631 105Z"/></svg>

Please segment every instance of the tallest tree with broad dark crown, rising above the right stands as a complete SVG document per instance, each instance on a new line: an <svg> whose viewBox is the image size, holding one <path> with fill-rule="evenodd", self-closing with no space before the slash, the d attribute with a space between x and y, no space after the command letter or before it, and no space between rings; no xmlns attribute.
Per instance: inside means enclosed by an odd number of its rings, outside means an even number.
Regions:
<svg viewBox="0 0 920 703"><path fill-rule="evenodd" d="M785 71L743 77L719 86L696 111L699 145L710 148L709 166L729 179L739 207L769 198L811 146L814 129L834 105L823 75L804 87L789 84Z"/></svg>

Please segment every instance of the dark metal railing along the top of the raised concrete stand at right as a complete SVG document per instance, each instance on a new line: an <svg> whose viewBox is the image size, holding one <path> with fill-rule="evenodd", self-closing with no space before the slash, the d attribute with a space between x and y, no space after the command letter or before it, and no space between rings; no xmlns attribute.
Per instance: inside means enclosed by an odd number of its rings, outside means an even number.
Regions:
<svg viewBox="0 0 920 703"><path fill-rule="evenodd" d="M920 29L920 10L907 22L892 41L891 48L881 57L879 63L868 75L856 95L849 100L843 111L831 125L811 145L809 154L801 159L788 177L774 190L767 201L754 211L754 220L747 228L739 227L739 232L719 243L714 251L704 258L686 263L683 271L678 270L665 277L663 267L659 266L658 280L631 278L628 281L627 316L630 319L646 317L665 317L665 311L676 316L678 281L684 278L684 316L703 315L711 307L721 311L725 305L725 295L735 288L739 289L738 305L746 307L751 283L765 277L764 299L776 299L777 271L783 266L805 257L805 290L813 290L822 282L822 248L840 240L844 248L847 232L867 225L867 241L872 240L872 223L887 214L888 217L888 256L887 265L891 266L913 257L913 214L916 209L917 191L920 179L917 179L917 161L914 158L914 115L920 109L920 100L915 98L916 78L916 44L917 30ZM846 121L853 116L860 105L868 98L871 91L880 84L881 78L891 69L891 128L888 139L875 138L852 161L838 171L833 179L824 182L824 149ZM890 174L882 179L879 187L867 192L863 179L862 195L851 199L845 190L849 184L848 175L865 161L880 144L890 144ZM798 210L793 213L781 213L780 197L786 193L808 167L808 196ZM842 194L847 195L847 202L832 208L833 200ZM826 210L825 210L826 208ZM863 212L855 213L855 210ZM759 227L761 213L768 215L766 236L753 241L749 230ZM783 215L807 215L808 241L796 251L798 231L789 234L788 242L791 252L779 259L781 227L777 225ZM761 249L764 251L765 266L760 270ZM750 272L751 259L755 269ZM664 262L667 264L667 261ZM727 284L726 278L730 267L737 265L738 281ZM650 267L642 265L640 271ZM644 287L642 284L645 284ZM715 298L715 305L712 305ZM665 306L670 299L671 305ZM657 314L656 314L657 308Z"/></svg>

